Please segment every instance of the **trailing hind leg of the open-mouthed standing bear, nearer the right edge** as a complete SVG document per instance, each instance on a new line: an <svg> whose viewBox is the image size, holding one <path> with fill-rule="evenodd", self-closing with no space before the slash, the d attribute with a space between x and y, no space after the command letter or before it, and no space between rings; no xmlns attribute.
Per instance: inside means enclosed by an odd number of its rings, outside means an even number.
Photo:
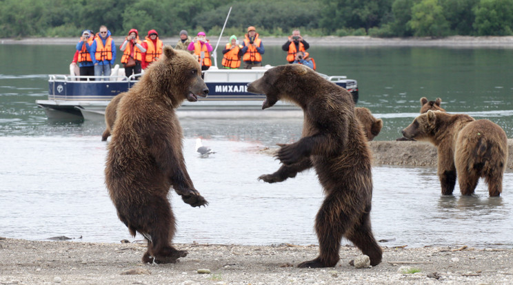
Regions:
<svg viewBox="0 0 513 285"><path fill-rule="evenodd" d="M372 234L370 206L368 209L365 209L365 213L361 216L359 223L355 225L354 230L350 231L347 237L363 254L368 255L370 265L376 266L381 262L383 251Z"/></svg>

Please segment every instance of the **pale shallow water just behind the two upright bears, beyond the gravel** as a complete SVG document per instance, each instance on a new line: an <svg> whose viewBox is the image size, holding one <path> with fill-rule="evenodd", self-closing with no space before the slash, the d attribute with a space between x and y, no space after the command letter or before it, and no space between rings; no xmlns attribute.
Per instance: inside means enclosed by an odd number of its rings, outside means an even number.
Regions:
<svg viewBox="0 0 513 285"><path fill-rule="evenodd" d="M257 178L279 164L258 153L264 145L257 140L210 138L203 144L217 153L199 158L194 138L186 138L184 155L195 186L210 204L192 208L170 194L178 221L174 242L317 243L314 217L323 193L313 171L266 184ZM132 239L103 183L106 152L99 135L0 137L0 148L8 162L0 165L1 236ZM489 198L484 184L476 197L462 197L459 189L443 197L431 168L374 167L373 180L374 235L392 240L383 246L513 246L512 173L506 173L501 198Z"/></svg>

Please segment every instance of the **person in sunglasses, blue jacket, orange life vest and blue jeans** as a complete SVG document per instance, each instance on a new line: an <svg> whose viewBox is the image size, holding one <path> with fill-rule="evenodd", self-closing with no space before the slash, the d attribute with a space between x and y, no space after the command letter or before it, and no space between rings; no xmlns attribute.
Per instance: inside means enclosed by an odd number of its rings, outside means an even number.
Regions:
<svg viewBox="0 0 513 285"><path fill-rule="evenodd" d="M116 61L116 45L110 31L101 25L99 36L92 41L90 54L94 63L94 76L110 76L110 70Z"/></svg>

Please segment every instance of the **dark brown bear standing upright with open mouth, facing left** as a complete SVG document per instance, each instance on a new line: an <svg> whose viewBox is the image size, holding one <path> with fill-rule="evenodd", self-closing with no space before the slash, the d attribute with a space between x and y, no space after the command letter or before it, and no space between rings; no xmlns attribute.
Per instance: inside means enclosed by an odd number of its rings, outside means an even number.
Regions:
<svg viewBox="0 0 513 285"><path fill-rule="evenodd" d="M304 65L274 67L248 85L248 92L265 94L262 109L289 101L303 109L303 134L290 145L281 145L278 171L260 176L281 182L314 167L326 198L316 216L320 253L299 267L332 267L340 260L342 237L347 237L370 257L381 262L382 251L372 234L371 157L367 139L356 116L351 94Z"/></svg>

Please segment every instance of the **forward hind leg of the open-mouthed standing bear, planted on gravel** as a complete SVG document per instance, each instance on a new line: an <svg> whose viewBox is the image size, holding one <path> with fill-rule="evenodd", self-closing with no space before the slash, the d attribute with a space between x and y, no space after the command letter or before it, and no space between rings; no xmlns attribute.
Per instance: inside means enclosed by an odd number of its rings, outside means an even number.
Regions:
<svg viewBox="0 0 513 285"><path fill-rule="evenodd" d="M343 198L333 194L325 198L315 219L315 231L319 239L319 257L301 262L298 267L334 267L339 262L341 240L350 224L350 219L341 209L341 199Z"/></svg>

